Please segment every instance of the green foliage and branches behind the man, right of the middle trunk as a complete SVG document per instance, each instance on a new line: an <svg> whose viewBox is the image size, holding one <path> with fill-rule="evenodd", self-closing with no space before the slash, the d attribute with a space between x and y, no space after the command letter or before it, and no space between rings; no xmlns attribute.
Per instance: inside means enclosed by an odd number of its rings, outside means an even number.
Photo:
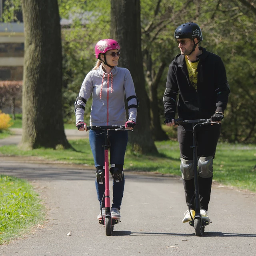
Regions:
<svg viewBox="0 0 256 256"><path fill-rule="evenodd" d="M173 39L174 30L178 25L188 21L198 23L204 38L200 44L221 56L231 87L221 139L255 143L255 14L236 0L162 0L158 12L157 3L157 0L141 0L145 74L148 75L148 67L151 66L150 75L154 76L160 62L165 59L169 64L174 56L180 53ZM151 62L148 56L151 57ZM160 110L163 108L162 96L167 71L166 68L158 84ZM162 116L161 120L164 120Z"/></svg>

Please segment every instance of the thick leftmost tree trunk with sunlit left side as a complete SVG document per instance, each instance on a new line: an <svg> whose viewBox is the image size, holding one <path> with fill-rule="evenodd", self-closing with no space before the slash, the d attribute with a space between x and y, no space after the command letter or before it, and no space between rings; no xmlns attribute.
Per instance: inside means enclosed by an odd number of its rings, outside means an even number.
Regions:
<svg viewBox="0 0 256 256"><path fill-rule="evenodd" d="M57 0L22 0L25 31L22 148L70 148L62 116L62 45Z"/></svg>

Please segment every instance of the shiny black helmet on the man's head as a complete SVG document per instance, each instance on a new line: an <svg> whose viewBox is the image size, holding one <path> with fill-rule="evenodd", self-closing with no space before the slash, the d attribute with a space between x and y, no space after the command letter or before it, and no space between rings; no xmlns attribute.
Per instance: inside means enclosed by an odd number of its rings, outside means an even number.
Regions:
<svg viewBox="0 0 256 256"><path fill-rule="evenodd" d="M194 22L187 22L178 26L174 32L174 38L190 38L193 40L197 38L199 42L203 40L201 29L198 24Z"/></svg>

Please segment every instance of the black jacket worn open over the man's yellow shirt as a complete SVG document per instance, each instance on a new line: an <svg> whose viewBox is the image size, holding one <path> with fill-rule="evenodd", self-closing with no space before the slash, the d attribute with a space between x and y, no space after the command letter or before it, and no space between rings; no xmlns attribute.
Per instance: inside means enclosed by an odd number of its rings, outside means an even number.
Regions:
<svg viewBox="0 0 256 256"><path fill-rule="evenodd" d="M169 66L164 92L164 114L174 118L176 98L178 117L183 120L208 119L215 112L224 112L230 88L220 56L199 47L197 90L190 84L185 56L178 54Z"/></svg>

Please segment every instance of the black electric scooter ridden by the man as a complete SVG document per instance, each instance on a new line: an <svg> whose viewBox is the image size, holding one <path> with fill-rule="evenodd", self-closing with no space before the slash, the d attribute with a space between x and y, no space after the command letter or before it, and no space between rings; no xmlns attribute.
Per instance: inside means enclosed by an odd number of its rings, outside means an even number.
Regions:
<svg viewBox="0 0 256 256"><path fill-rule="evenodd" d="M193 149L193 165L194 165L194 184L195 184L195 193L194 193L194 200L195 200L195 216L191 215L190 207L190 217L191 220L189 222L190 226L193 226L196 232L196 236L203 236L204 227L209 225L209 220L203 220L200 214L200 199L199 199L199 186L198 186L198 159L197 159L197 146L196 146L196 133L195 128L199 124L201 125L211 125L211 124L218 124L215 122L211 122L210 119L195 119L195 120L183 120L182 118L178 118L174 120L175 124L192 124L192 133L193 133L193 145L191 148ZM193 198L192 198L193 199Z"/></svg>

